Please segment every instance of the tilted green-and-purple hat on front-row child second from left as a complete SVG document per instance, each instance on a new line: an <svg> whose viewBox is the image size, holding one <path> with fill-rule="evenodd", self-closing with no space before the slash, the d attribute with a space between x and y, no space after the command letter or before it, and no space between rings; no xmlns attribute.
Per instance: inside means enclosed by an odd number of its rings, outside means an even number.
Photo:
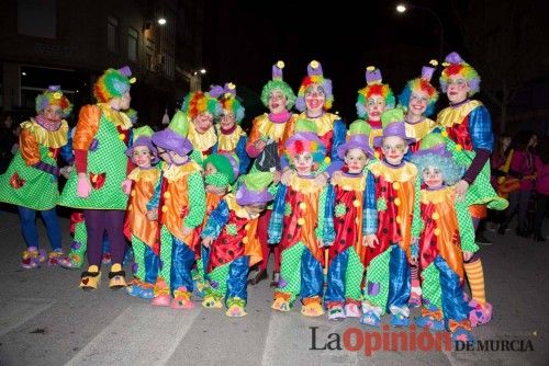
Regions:
<svg viewBox="0 0 549 366"><path fill-rule="evenodd" d="M153 142L168 151L175 151L184 157L192 151L192 144L187 139L189 131L189 118L184 113L178 111L165 129L153 135Z"/></svg>

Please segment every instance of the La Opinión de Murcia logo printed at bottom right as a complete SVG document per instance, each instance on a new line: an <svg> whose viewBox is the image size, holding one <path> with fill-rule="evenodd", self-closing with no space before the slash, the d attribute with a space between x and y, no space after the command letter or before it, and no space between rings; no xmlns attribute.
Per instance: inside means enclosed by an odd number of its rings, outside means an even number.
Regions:
<svg viewBox="0 0 549 366"><path fill-rule="evenodd" d="M477 340L473 342L451 341L449 332L435 332L412 324L406 331L393 331L388 324L381 331L363 331L359 328L348 328L340 333L328 333L322 336L318 327L311 330L310 351L363 351L370 356L377 351L467 351L467 352L528 352L534 351L530 340ZM453 347L452 347L453 345Z"/></svg>

